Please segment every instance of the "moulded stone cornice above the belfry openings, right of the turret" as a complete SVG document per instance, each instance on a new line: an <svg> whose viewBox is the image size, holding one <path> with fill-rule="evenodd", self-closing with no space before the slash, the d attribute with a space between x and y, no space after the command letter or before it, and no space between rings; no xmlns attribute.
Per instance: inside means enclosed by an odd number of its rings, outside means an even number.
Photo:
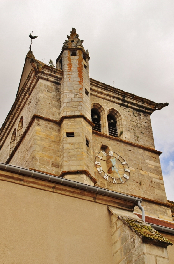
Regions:
<svg viewBox="0 0 174 264"><path fill-rule="evenodd" d="M157 103L90 78L90 94L151 115Z"/></svg>

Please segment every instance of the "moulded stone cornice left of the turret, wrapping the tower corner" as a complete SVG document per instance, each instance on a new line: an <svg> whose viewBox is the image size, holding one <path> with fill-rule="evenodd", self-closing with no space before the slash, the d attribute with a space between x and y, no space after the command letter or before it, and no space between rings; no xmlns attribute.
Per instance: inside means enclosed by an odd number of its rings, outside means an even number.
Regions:
<svg viewBox="0 0 174 264"><path fill-rule="evenodd" d="M16 122L22 108L25 105L24 102L28 100L28 97L32 93L39 79L44 79L46 81L51 81L57 84L60 84L60 81L62 79L63 72L61 70L50 67L40 62L39 60L32 58L31 65L33 66L33 69L31 69L19 94L17 94L16 99L11 107L11 110L8 112L8 115L3 125L0 128L0 136L1 136L0 143L2 142L4 135L9 133L8 130L11 127L11 125L13 125ZM28 95L28 97L26 95ZM18 115L16 115L17 112L19 112ZM13 117L16 118L13 119Z"/></svg>

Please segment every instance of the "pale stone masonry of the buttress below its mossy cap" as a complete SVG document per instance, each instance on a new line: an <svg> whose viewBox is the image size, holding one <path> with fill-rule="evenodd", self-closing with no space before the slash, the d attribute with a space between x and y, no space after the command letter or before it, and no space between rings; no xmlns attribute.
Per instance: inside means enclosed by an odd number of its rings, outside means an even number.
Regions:
<svg viewBox="0 0 174 264"><path fill-rule="evenodd" d="M111 214L114 264L169 264L167 248L147 244L115 215Z"/></svg>

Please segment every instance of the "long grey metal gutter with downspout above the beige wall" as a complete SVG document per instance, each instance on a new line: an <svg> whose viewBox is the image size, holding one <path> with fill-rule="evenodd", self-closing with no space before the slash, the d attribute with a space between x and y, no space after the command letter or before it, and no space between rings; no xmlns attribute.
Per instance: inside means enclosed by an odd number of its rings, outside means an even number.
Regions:
<svg viewBox="0 0 174 264"><path fill-rule="evenodd" d="M49 175L49 174L46 174L43 172L33 171L31 169L25 169L25 168L21 168L21 167L14 166L14 165L9 165L6 163L0 162L0 169L2 169L4 171L10 171L13 173L19 173L22 175L26 175L29 177L33 177L33 178L37 178L37 179L41 179L41 180L45 180L45 181L54 182L57 184L63 184L66 186L70 186L70 187L74 187L74 188L78 188L78 189L82 189L82 190L86 190L86 191L95 192L97 194L106 195L109 197L118 198L118 199L122 199L122 200L129 201L129 202L134 202L141 209L142 220L145 221L145 213L144 213L144 208L141 206L141 202L142 202L141 198L134 197L134 196L127 195L127 194L122 194L120 192L110 191L108 189L88 185L88 184L77 182L77 181L72 181L72 180L61 178L58 176Z"/></svg>

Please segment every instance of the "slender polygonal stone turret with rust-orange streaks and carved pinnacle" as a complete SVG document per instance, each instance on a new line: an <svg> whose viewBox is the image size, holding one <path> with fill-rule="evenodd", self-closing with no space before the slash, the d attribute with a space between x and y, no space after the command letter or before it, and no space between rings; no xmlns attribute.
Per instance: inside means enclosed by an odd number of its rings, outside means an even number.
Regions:
<svg viewBox="0 0 174 264"><path fill-rule="evenodd" d="M89 52L75 28L56 63L63 71L60 96L60 175L94 185Z"/></svg>

